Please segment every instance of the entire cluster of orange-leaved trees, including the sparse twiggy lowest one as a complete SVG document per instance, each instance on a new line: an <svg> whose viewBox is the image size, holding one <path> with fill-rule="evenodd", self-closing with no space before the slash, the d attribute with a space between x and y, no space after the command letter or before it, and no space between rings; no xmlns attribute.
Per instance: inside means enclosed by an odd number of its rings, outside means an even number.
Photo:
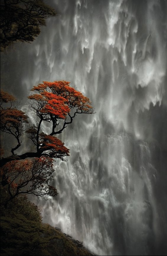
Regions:
<svg viewBox="0 0 167 256"><path fill-rule="evenodd" d="M44 199L57 195L56 188L49 185L53 179L53 161L56 158L66 161L69 149L56 135L62 133L77 114L94 113L89 98L70 87L70 82L43 81L31 91L29 108L37 116L37 126L28 123L28 116L18 109L14 96L1 90L1 132L17 140L11 149L12 155L1 158L1 185L8 186L10 200L21 193ZM49 134L42 131L43 122L48 122ZM35 150L18 155L15 151L21 147L24 134L35 145Z"/></svg>

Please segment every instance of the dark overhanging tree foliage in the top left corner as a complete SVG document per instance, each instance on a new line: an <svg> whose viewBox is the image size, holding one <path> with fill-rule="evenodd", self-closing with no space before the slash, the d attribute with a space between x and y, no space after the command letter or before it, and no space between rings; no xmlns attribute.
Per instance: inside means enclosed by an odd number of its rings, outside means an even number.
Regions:
<svg viewBox="0 0 167 256"><path fill-rule="evenodd" d="M1 0L1 50L16 41L32 42L45 19L55 15L42 0Z"/></svg>

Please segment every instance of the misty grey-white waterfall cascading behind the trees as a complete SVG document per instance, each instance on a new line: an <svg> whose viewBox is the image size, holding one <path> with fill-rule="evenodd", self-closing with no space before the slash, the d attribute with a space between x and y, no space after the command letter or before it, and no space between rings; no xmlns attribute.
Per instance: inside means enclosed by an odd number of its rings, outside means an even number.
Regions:
<svg viewBox="0 0 167 256"><path fill-rule="evenodd" d="M43 221L97 255L166 255L166 1L48 4L61 16L16 45L9 66L21 63L24 95L67 80L96 114L78 115L59 137L70 157L56 161L59 195L42 202Z"/></svg>

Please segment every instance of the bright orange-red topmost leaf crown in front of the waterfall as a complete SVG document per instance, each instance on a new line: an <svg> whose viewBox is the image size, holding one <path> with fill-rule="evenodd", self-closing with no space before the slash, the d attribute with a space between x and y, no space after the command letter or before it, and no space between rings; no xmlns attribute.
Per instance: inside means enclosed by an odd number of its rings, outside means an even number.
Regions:
<svg viewBox="0 0 167 256"><path fill-rule="evenodd" d="M89 98L69 86L67 81L54 81L38 84L32 91L37 92L29 99L38 102L36 110L43 114L54 115L57 119L66 119L70 109L75 108L76 113L92 114L94 112ZM35 109L32 109L35 111ZM47 117L48 118L48 117Z"/></svg>

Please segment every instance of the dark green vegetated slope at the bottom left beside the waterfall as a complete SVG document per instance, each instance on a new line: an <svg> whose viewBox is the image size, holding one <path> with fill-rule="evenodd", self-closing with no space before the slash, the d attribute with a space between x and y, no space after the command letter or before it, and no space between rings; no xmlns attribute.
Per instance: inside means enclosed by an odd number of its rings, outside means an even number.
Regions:
<svg viewBox="0 0 167 256"><path fill-rule="evenodd" d="M5 207L8 196L1 187L1 256L93 255L60 230L42 223L37 206L25 195Z"/></svg>

